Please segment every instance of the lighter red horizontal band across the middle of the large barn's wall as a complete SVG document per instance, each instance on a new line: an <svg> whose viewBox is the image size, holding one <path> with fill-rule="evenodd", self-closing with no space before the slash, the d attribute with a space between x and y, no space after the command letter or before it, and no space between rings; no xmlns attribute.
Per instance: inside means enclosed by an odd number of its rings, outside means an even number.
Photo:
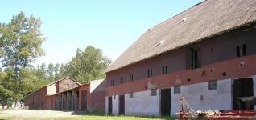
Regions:
<svg viewBox="0 0 256 120"><path fill-rule="evenodd" d="M175 82L178 79L180 79L181 85L189 85L227 78L246 78L256 74L255 62L256 54L202 66L196 70L180 70L175 73L155 76L151 78L151 82L157 86L156 88L163 89L170 86L176 86ZM244 65L241 66L241 63L244 63ZM223 76L223 72L226 73L225 76ZM109 86L106 90L106 96L147 90L148 82L148 78L143 78L134 82Z"/></svg>

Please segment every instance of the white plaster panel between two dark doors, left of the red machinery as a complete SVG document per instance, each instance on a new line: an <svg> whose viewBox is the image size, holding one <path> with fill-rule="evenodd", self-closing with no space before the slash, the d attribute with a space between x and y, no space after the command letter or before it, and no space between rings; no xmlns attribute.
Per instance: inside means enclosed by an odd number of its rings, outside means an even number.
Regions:
<svg viewBox="0 0 256 120"><path fill-rule="evenodd" d="M159 116L159 90L156 96L151 96L151 90L134 93L134 98L130 94L125 94L126 115Z"/></svg>

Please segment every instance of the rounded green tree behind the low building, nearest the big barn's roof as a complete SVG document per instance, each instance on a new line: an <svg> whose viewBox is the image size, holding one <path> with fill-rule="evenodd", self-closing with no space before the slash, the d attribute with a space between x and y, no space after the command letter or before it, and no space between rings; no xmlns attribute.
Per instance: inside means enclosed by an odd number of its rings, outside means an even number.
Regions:
<svg viewBox="0 0 256 120"><path fill-rule="evenodd" d="M101 49L87 46L84 51L76 50L76 56L65 67L65 73L85 83L93 79L104 78L103 70L111 60L102 55Z"/></svg>

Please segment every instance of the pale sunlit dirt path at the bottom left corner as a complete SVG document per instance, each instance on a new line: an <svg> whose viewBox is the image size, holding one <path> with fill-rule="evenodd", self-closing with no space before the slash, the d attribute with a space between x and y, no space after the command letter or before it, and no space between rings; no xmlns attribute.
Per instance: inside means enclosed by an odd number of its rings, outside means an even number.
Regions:
<svg viewBox="0 0 256 120"><path fill-rule="evenodd" d="M55 111L55 110L2 110L1 117L35 117L35 118L60 118L60 117L77 117L73 111Z"/></svg>

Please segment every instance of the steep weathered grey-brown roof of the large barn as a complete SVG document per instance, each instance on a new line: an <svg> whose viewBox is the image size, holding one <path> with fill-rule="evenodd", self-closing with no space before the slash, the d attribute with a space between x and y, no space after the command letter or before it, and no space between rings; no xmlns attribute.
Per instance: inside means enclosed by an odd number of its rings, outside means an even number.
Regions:
<svg viewBox="0 0 256 120"><path fill-rule="evenodd" d="M256 0L207 0L147 30L105 72L256 20Z"/></svg>

